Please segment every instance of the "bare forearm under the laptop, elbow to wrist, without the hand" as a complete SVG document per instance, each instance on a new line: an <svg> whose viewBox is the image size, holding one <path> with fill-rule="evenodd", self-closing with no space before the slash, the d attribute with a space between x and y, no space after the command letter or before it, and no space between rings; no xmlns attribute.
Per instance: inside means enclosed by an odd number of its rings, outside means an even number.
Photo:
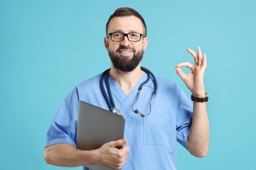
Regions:
<svg viewBox="0 0 256 170"><path fill-rule="evenodd" d="M95 163L95 151L78 150L70 144L53 144L43 153L47 163L62 167L77 167Z"/></svg>

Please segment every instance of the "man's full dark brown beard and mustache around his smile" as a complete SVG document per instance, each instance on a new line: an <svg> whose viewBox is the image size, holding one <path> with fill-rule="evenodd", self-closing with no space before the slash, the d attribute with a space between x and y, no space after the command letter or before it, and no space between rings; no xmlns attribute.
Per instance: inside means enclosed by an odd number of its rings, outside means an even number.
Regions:
<svg viewBox="0 0 256 170"><path fill-rule="evenodd" d="M119 50L133 50L133 58L127 59L122 58L117 55ZM136 51L134 48L131 47L119 47L116 52L112 50L108 50L108 55L110 56L110 59L116 69L122 72L130 72L133 71L140 63L140 61L143 58L144 51Z"/></svg>

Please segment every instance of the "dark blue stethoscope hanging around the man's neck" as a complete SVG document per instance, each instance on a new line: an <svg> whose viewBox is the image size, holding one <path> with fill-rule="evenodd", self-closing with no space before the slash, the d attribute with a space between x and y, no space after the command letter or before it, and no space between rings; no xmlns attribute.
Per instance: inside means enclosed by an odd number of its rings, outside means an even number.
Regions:
<svg viewBox="0 0 256 170"><path fill-rule="evenodd" d="M140 69L142 69L142 71L144 71L148 77L147 77L147 79L144 82L142 82L142 84L140 84L139 89L138 89L138 93L137 93L137 99L135 100L133 105L131 105L131 108L133 109L133 112L135 112L136 114L139 114L140 116L144 117L144 116L147 116L147 115L149 115L151 113L151 104L152 104L152 101L153 101L153 99L154 99L154 97L156 95L156 91L158 90L158 82L156 81L156 77L153 75L153 73L151 71L149 71L148 69L146 69L144 67L140 67ZM116 114L120 114L120 111L118 109L116 109L116 105L115 105L114 99L112 97L112 92L111 92L111 89L110 89L110 82L108 80L109 72L110 72L110 69L107 69L100 76L100 90L102 92L102 95L104 96L104 99L106 100L106 103L108 104L108 108L112 112L114 112ZM139 99L142 87L144 86L144 84L146 84L148 82L148 80L150 80L150 76L152 76L152 78L153 78L154 92L152 93L152 97L150 99L150 110L146 114L146 113L140 112L140 110L138 110L138 109L134 109L133 107L134 107L135 103L137 103L137 101ZM106 94L106 91L105 91L104 86L103 86L103 79L104 79L104 77L105 77L105 81L106 81L106 88L108 90L108 95ZM108 99L108 96L109 96L109 99Z"/></svg>

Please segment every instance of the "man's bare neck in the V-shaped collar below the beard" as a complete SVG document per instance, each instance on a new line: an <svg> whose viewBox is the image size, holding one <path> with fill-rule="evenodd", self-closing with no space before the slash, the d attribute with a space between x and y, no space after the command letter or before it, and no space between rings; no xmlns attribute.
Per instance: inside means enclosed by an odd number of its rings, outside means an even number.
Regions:
<svg viewBox="0 0 256 170"><path fill-rule="evenodd" d="M110 76L121 86L123 91L128 95L140 78L143 75L143 71L140 69L140 64L130 72L122 72L117 70L111 65Z"/></svg>

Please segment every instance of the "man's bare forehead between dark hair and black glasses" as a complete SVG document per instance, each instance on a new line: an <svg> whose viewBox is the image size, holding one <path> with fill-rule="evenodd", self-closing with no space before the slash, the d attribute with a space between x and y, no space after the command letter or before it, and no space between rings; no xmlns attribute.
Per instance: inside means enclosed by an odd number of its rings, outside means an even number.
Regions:
<svg viewBox="0 0 256 170"><path fill-rule="evenodd" d="M119 16L110 20L108 25L108 33L121 31L122 33L128 32L143 32L143 24L139 18L135 16Z"/></svg>

